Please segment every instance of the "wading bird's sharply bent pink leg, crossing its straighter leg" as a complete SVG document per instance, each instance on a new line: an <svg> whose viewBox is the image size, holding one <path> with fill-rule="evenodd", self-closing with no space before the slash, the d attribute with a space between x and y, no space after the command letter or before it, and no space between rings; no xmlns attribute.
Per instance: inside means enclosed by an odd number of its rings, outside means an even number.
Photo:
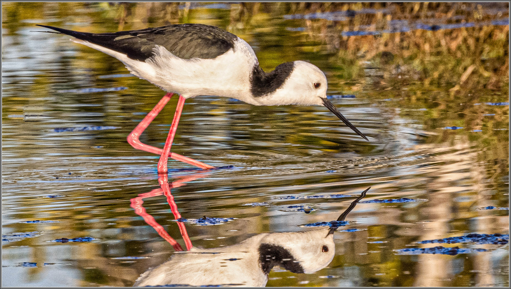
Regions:
<svg viewBox="0 0 511 289"><path fill-rule="evenodd" d="M156 117L156 115L158 115L158 113L161 111L161 109L163 109L164 106L169 102L172 95L173 95L173 93L165 94L165 96L158 102L158 104L146 115L146 117L144 117L142 122L140 122L133 129L133 131L130 134L128 134L128 143L131 144L131 146L133 148L135 148L137 150L142 150L142 151L150 152L153 154L161 155L161 153L163 152L162 149L158 149L156 147L149 146L148 144L142 143L139 138L140 138L140 135L146 130L146 128L149 126L149 124ZM184 103L184 101L183 101L183 103ZM181 106L181 110L182 110L182 106ZM177 112L177 109L176 109L176 112ZM180 113L179 113L179 115L180 115ZM179 116L178 116L178 119L179 119ZM172 123L174 123L174 122L172 122ZM172 129L172 127L171 127L171 129ZM176 124L176 129L177 129L177 124ZM174 134L175 134L175 131L174 131ZM169 148L169 150L170 150L170 148ZM202 163L200 161L197 161L197 160L194 160L194 159L191 159L191 158L188 158L188 157L176 154L176 153L169 152L169 154L167 155L167 158L168 157L173 158L178 161L189 163L191 165L195 165L200 168L214 168L214 166ZM159 172L159 170L158 170L158 172Z"/></svg>

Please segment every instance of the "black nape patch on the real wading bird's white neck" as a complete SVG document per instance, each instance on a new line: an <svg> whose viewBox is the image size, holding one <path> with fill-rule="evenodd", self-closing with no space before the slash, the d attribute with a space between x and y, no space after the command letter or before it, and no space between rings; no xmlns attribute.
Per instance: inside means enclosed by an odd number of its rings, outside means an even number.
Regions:
<svg viewBox="0 0 511 289"><path fill-rule="evenodd" d="M281 87L291 75L293 67L293 62L285 62L275 67L275 70L271 71L271 73L265 73L258 64L255 64L250 77L252 95L254 97L262 97Z"/></svg>

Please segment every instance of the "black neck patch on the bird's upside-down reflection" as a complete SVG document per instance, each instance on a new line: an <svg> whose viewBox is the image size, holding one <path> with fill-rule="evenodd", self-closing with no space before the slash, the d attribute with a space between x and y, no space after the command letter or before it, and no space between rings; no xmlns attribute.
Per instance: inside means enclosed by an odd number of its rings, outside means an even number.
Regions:
<svg viewBox="0 0 511 289"><path fill-rule="evenodd" d="M259 264L266 275L276 265L292 273L304 273L304 268L293 258L293 255L278 245L261 244L259 246Z"/></svg>

